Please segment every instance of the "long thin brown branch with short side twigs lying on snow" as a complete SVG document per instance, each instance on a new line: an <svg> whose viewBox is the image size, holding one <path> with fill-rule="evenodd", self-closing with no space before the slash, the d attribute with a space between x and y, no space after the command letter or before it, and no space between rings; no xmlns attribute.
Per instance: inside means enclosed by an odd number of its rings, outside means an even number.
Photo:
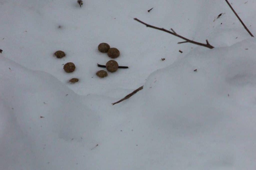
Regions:
<svg viewBox="0 0 256 170"><path fill-rule="evenodd" d="M183 40L185 40L185 41L187 41L187 42L189 42L189 43L196 44L196 45L200 45L200 46L204 46L204 47L207 47L207 48L210 48L210 49L214 48L214 46L211 46L209 43L208 43L208 44L203 44L203 43L198 43L198 42L196 42L196 41L189 40L188 38L185 38L185 37L183 37L183 36L177 34L177 33L174 32L173 30L172 30L173 32L171 32L171 31L168 31L168 30L166 30L166 29L164 29L164 28L159 28L159 27L155 27L155 26L153 26L153 25L149 25L149 24L147 24L147 23L145 23L145 22L142 22L141 20L138 20L137 18L134 18L134 20L136 20L136 21L138 21L138 22L140 22L140 23L146 25L146 27L150 27L150 28L154 28L154 29L156 29L156 30L164 31L164 32L167 32L167 33L169 33L169 34L172 34L172 35L174 35L174 36L176 36L176 37L182 38Z"/></svg>

